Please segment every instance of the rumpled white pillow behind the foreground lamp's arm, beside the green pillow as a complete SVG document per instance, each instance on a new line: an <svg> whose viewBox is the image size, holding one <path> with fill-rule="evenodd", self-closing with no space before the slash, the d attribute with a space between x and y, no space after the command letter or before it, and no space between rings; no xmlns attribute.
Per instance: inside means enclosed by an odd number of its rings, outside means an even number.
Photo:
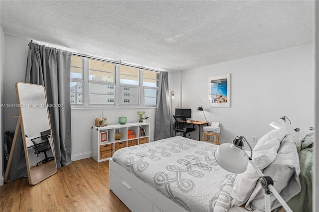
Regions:
<svg viewBox="0 0 319 212"><path fill-rule="evenodd" d="M274 188L285 202L289 201L301 190L298 177L300 174L299 155L293 138L294 136L289 135L284 138L280 144L276 159L263 171L265 176L270 176L273 179ZM273 194L270 195L270 203L271 210L281 206ZM265 211L264 189L260 183L256 185L246 204L246 208Z"/></svg>

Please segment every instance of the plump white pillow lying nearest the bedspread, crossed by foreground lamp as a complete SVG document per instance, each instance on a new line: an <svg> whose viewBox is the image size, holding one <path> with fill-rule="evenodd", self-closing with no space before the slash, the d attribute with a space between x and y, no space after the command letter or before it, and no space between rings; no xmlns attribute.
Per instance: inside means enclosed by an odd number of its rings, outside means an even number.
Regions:
<svg viewBox="0 0 319 212"><path fill-rule="evenodd" d="M285 129L274 129L259 139L253 149L252 160L261 171L275 160L280 142L286 134ZM238 174L235 179L232 192L233 205L241 206L248 201L258 178L256 170L248 163L247 170Z"/></svg>

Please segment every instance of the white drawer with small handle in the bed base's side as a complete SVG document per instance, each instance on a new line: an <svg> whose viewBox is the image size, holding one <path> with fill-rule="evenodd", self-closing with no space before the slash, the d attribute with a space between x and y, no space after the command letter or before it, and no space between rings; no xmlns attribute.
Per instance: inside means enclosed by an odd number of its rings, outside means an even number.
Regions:
<svg viewBox="0 0 319 212"><path fill-rule="evenodd" d="M132 212L152 212L153 204L110 170L110 189Z"/></svg>

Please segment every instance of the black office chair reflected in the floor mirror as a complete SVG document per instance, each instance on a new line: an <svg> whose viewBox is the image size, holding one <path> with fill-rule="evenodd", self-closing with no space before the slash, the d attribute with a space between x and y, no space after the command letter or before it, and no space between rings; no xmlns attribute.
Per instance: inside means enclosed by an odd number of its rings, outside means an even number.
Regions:
<svg viewBox="0 0 319 212"><path fill-rule="evenodd" d="M37 140L37 142L35 140ZM45 157L43 160L38 162L36 166L38 166L40 163L47 163L48 161L54 159L54 157L48 157L46 154L46 152L51 149L48 135L33 138L31 141L33 143L34 154L37 154L37 157L39 157L39 154L43 152Z"/></svg>

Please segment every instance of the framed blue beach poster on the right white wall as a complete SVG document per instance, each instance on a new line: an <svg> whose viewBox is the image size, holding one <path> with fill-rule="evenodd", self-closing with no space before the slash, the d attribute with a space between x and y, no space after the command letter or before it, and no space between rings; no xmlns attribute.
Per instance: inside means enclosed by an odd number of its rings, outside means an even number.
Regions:
<svg viewBox="0 0 319 212"><path fill-rule="evenodd" d="M230 74L209 77L209 106L230 107Z"/></svg>

